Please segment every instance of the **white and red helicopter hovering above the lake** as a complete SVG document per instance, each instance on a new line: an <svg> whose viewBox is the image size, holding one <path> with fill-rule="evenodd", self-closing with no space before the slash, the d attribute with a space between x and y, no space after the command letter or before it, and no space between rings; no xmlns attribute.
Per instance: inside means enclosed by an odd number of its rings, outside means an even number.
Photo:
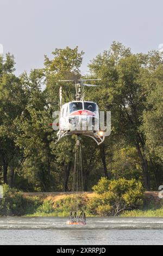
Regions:
<svg viewBox="0 0 163 256"><path fill-rule="evenodd" d="M58 139L55 144L65 136L87 136L98 145L104 142L104 131L99 129L99 108L96 102L84 100L84 88L96 87L86 81L99 81L101 79L59 80L59 82L74 82L76 87L76 100L62 105L62 86L60 86L60 117Z"/></svg>

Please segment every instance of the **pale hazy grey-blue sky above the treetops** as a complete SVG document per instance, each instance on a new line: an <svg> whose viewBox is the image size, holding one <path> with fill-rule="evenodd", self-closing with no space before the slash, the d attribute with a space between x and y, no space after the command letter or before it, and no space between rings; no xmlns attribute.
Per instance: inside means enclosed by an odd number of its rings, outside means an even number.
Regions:
<svg viewBox="0 0 163 256"><path fill-rule="evenodd" d="M0 44L16 73L43 66L55 48L76 47L87 63L120 41L133 52L163 43L162 0L0 0Z"/></svg>

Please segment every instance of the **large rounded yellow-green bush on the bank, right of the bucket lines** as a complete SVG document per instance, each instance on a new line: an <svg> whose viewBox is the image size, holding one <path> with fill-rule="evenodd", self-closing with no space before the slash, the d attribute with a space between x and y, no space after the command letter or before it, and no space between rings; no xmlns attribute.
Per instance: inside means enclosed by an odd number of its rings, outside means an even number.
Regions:
<svg viewBox="0 0 163 256"><path fill-rule="evenodd" d="M142 184L135 179L107 180L102 178L93 187L98 197L89 202L89 211L92 214L116 216L126 209L138 208L143 204Z"/></svg>

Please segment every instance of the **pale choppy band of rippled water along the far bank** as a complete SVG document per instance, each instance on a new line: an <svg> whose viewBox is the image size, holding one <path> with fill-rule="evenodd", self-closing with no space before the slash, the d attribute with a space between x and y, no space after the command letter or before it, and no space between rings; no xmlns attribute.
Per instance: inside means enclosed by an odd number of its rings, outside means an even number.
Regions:
<svg viewBox="0 0 163 256"><path fill-rule="evenodd" d="M66 225L67 218L56 217L5 217L0 218L2 229L60 229L60 230L109 230L109 229L162 229L163 218L87 218L87 225Z"/></svg>

